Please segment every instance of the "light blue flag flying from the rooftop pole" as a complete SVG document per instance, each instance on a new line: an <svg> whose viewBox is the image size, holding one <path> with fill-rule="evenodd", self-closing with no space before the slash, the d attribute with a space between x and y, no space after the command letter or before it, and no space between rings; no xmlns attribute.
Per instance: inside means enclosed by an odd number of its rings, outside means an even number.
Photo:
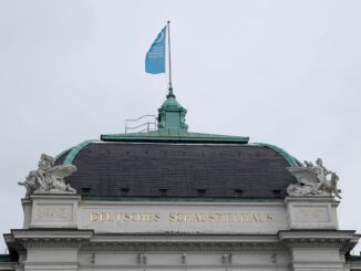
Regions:
<svg viewBox="0 0 361 271"><path fill-rule="evenodd" d="M145 72L165 73L165 40L167 27L164 27L145 56Z"/></svg>

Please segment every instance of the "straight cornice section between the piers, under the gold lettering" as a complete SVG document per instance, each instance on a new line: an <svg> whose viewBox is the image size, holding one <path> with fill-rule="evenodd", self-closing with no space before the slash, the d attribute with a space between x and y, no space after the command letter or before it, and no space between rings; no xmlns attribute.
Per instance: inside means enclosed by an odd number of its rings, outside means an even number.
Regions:
<svg viewBox="0 0 361 271"><path fill-rule="evenodd" d="M83 251L275 251L285 250L277 236L243 234L95 234Z"/></svg>

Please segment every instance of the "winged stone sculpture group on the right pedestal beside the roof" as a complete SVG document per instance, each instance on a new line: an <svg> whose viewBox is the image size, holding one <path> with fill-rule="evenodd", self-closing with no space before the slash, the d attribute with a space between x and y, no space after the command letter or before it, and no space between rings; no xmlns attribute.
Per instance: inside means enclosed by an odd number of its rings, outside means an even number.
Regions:
<svg viewBox="0 0 361 271"><path fill-rule="evenodd" d="M287 192L289 196L333 196L341 199L337 184L339 176L328 170L321 158L312 161L305 161L302 167L288 167L287 169L297 178L297 185L289 185Z"/></svg>

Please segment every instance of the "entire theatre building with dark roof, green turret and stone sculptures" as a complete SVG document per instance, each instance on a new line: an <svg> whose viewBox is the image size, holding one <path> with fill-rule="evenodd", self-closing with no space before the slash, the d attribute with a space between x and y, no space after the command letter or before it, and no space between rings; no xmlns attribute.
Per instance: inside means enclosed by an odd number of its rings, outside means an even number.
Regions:
<svg viewBox="0 0 361 271"><path fill-rule="evenodd" d="M156 131L42 155L0 270L361 270L321 160L190 133L185 114L171 88Z"/></svg>

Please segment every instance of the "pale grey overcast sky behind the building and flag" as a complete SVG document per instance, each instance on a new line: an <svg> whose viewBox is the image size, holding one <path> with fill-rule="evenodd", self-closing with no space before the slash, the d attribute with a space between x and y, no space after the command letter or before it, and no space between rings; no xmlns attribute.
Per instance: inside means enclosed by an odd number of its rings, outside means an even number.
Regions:
<svg viewBox="0 0 361 271"><path fill-rule="evenodd" d="M166 77L144 56L167 20L189 129L322 157L340 176L340 228L361 232L360 14L357 0L1 0L0 232L21 228L17 183L41 153L156 113Z"/></svg>

